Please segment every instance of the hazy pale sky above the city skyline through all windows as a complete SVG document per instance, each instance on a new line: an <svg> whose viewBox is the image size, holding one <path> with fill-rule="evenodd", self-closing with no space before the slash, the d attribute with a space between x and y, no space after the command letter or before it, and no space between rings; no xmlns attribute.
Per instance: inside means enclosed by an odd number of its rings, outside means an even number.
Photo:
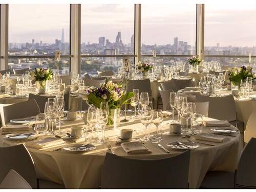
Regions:
<svg viewBox="0 0 256 192"><path fill-rule="evenodd" d="M142 4L141 35L145 44L169 44L174 37L194 44L196 4ZM54 43L69 40L70 5L10 5L9 42ZM205 4L205 45L256 45L255 4ZM121 31L125 44L134 32L134 5L86 5L81 7L81 42L98 43L104 36L115 41Z"/></svg>

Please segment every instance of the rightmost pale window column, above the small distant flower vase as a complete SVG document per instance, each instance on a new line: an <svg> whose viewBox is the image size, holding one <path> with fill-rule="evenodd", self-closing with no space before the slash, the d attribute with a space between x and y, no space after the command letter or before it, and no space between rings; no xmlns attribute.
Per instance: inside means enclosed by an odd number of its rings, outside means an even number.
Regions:
<svg viewBox="0 0 256 192"><path fill-rule="evenodd" d="M197 4L197 45L196 54L204 59L204 4Z"/></svg>

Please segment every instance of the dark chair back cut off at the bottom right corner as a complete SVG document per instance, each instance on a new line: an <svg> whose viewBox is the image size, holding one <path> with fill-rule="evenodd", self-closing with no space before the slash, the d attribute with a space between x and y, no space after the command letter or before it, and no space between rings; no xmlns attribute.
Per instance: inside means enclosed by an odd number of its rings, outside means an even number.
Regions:
<svg viewBox="0 0 256 192"><path fill-rule="evenodd" d="M256 188L256 138L245 146L237 169L236 185L241 188Z"/></svg>

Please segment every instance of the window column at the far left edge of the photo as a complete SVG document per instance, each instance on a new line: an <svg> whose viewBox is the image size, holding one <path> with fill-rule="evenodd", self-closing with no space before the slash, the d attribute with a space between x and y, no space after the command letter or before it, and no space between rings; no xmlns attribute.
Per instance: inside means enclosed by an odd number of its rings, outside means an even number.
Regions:
<svg viewBox="0 0 256 192"><path fill-rule="evenodd" d="M1 70L8 68L8 8L7 4L1 5Z"/></svg>

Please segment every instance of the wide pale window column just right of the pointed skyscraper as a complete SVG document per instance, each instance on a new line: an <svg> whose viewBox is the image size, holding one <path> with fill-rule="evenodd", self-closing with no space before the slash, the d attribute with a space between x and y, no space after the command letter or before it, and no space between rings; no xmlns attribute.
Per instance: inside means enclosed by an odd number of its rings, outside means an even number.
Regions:
<svg viewBox="0 0 256 192"><path fill-rule="evenodd" d="M70 17L70 54L73 55L70 63L70 72L80 74L80 45L81 45L81 5L71 5Z"/></svg>

